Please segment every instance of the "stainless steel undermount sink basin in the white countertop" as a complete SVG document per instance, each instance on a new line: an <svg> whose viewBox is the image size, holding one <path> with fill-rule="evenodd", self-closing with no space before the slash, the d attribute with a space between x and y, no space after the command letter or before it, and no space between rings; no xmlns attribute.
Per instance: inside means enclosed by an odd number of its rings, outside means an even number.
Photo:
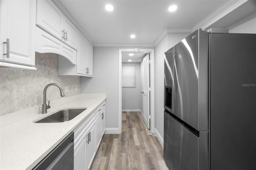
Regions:
<svg viewBox="0 0 256 170"><path fill-rule="evenodd" d="M56 113L53 113L52 115L45 117L39 121L36 121L35 123L60 123L60 122L66 122L70 121L71 119L74 119L77 115L85 111L85 109L63 109L61 111L58 111Z"/></svg>

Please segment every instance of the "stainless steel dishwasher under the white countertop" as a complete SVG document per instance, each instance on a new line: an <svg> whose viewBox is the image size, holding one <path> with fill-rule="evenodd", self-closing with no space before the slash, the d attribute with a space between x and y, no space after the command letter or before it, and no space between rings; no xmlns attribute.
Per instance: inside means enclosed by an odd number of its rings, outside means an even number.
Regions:
<svg viewBox="0 0 256 170"><path fill-rule="evenodd" d="M71 132L33 170L74 170L74 132Z"/></svg>

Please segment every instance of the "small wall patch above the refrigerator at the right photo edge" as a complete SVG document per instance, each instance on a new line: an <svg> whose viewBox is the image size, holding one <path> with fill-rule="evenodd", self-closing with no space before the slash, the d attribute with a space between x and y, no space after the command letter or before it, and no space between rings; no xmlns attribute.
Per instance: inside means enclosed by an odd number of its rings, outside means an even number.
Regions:
<svg viewBox="0 0 256 170"><path fill-rule="evenodd" d="M256 12L228 26L228 32L256 34Z"/></svg>

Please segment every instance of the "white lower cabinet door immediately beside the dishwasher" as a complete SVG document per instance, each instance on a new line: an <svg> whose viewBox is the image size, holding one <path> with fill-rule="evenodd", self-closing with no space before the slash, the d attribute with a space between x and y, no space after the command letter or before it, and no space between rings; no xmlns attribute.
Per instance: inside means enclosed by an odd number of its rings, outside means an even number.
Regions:
<svg viewBox="0 0 256 170"><path fill-rule="evenodd" d="M86 140L84 135L76 146L74 146L74 170L84 170L86 168Z"/></svg>

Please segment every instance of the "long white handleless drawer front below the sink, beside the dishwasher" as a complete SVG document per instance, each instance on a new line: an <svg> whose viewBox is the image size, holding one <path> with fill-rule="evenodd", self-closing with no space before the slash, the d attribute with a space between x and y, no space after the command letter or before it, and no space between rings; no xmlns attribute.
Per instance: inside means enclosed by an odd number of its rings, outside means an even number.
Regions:
<svg viewBox="0 0 256 170"><path fill-rule="evenodd" d="M77 128L74 129L74 145L82 138L86 128L95 120L95 111L93 111Z"/></svg>

